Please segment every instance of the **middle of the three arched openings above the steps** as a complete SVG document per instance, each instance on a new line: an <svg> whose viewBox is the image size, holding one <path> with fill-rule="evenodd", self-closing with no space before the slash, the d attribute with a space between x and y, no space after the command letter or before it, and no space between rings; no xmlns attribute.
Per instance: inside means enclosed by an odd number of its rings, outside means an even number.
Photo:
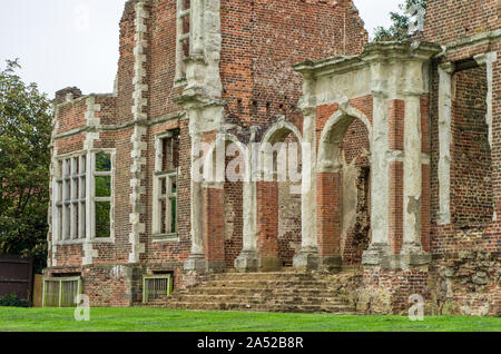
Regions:
<svg viewBox="0 0 501 354"><path fill-rule="evenodd" d="M262 271L292 267L301 248L302 147L298 129L281 121L261 145L257 233Z"/></svg>

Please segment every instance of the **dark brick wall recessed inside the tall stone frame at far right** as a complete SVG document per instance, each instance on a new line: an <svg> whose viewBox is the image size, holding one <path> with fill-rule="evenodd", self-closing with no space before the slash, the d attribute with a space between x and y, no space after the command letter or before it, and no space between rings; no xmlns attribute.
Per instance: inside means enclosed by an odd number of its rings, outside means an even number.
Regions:
<svg viewBox="0 0 501 354"><path fill-rule="evenodd" d="M493 215L485 68L456 72L453 80L452 219L458 226L482 226L490 223Z"/></svg>

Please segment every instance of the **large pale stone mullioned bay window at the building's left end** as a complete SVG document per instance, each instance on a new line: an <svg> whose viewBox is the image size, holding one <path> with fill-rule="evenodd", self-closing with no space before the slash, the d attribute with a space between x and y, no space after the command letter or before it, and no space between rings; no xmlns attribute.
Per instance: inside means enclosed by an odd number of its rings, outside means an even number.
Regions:
<svg viewBox="0 0 501 354"><path fill-rule="evenodd" d="M99 153L105 153L110 156L111 169L106 173L96 173L96 155ZM61 169L59 169L60 161L65 160L73 160L79 159L79 164L85 161L85 171L80 174L71 174L66 176ZM87 151L75 151L70 154L65 154L56 157L55 161L55 176L52 178L52 242L55 245L68 245L68 244L85 244L87 242L91 243L115 243L115 170L116 170L116 149L102 148L102 149L90 149ZM75 164L71 164L71 167ZM82 165L80 165L82 166ZM75 169L73 169L75 170ZM72 170L70 170L71 173ZM89 173L90 171L90 173ZM91 178L89 177L91 176ZM111 177L111 195L109 197L95 197L95 188L96 188L96 177ZM79 179L79 187L82 186L82 181L85 183L85 188L77 188L77 194L79 194L78 198L72 198L75 196L73 189L75 187L70 186L70 194L72 194L71 198L67 201L59 201L59 195L61 190L63 190L65 185L70 180L71 185L75 186L73 179ZM59 184L62 181L62 188L59 189ZM82 191L84 190L84 191ZM96 236L96 203L110 203L110 215L109 215L109 224L110 224L110 234L109 237L97 237ZM59 215L58 207L63 204L79 204L84 207L78 213L78 224L75 220L76 213L71 213L70 215L70 236L62 237L62 225L60 223L63 222L62 215ZM71 210L71 208L70 208ZM85 210L82 213L81 210ZM61 213L62 214L62 213ZM82 217L85 216L85 217ZM78 237L75 237L71 232L71 225L78 225ZM73 228L76 228L73 226Z"/></svg>

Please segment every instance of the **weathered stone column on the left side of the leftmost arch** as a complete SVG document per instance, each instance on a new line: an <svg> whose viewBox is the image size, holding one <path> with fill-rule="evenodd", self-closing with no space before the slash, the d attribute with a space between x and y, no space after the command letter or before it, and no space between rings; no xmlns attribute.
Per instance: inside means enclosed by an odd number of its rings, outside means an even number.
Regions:
<svg viewBox="0 0 501 354"><path fill-rule="evenodd" d="M193 272L205 272L202 181L197 180L194 170L197 166L195 161L199 158L200 142L200 135L191 134L191 253L185 262L185 271Z"/></svg>

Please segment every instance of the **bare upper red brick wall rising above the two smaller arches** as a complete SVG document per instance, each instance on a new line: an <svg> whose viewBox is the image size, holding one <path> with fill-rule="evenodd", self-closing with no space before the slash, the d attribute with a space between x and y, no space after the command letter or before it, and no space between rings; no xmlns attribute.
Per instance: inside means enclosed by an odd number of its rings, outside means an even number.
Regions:
<svg viewBox="0 0 501 354"><path fill-rule="evenodd" d="M292 69L294 63L356 55L367 41L351 0L336 4L316 0L226 0L220 11L227 114L253 125L266 125L277 114L286 115L288 120L301 116L296 108L301 75Z"/></svg>

